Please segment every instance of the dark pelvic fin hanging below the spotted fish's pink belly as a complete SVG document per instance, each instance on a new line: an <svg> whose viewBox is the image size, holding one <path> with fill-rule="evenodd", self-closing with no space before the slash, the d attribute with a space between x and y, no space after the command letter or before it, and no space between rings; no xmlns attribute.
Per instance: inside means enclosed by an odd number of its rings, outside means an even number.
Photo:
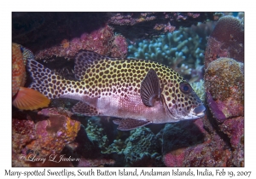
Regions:
<svg viewBox="0 0 256 179"><path fill-rule="evenodd" d="M119 124L118 130L133 130L138 127L150 124L151 121L148 120L137 120L133 118L124 118L124 119L114 119L114 124Z"/></svg>

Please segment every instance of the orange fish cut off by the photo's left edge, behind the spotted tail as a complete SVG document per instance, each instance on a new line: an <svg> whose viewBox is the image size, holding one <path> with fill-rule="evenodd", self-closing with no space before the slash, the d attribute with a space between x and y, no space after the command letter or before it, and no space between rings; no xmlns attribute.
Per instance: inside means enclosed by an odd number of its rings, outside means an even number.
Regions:
<svg viewBox="0 0 256 179"><path fill-rule="evenodd" d="M12 104L20 110L48 107L49 98L37 90L25 88L26 61L33 59L32 52L20 44L12 43Z"/></svg>

